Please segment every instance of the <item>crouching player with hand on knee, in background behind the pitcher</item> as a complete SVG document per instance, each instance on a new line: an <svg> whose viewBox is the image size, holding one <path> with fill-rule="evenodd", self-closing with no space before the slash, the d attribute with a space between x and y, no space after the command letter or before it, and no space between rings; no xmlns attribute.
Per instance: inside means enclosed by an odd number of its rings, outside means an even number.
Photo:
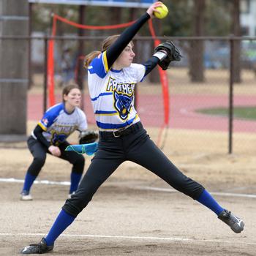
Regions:
<svg viewBox="0 0 256 256"><path fill-rule="evenodd" d="M83 155L65 151L70 144L67 137L75 130L87 129L86 115L80 110L81 92L76 84L64 87L63 102L49 108L28 138L29 151L34 159L26 172L20 200L32 200L30 189L45 164L46 154L67 160L72 164L69 197L78 189L83 174Z"/></svg>

